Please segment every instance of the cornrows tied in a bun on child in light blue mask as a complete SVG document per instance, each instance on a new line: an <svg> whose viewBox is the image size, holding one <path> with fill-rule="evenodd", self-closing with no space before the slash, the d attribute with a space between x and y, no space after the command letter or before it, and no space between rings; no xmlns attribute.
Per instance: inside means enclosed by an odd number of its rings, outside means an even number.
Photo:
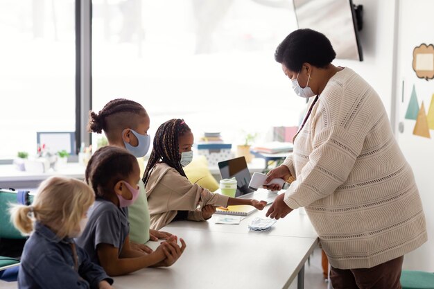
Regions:
<svg viewBox="0 0 434 289"><path fill-rule="evenodd" d="M110 130L110 128L107 128L107 117L121 112L146 114L145 108L140 103L125 98L116 98L109 101L98 114L92 111L89 112L87 131L96 132L98 134L101 134L103 130L107 132L107 130Z"/></svg>

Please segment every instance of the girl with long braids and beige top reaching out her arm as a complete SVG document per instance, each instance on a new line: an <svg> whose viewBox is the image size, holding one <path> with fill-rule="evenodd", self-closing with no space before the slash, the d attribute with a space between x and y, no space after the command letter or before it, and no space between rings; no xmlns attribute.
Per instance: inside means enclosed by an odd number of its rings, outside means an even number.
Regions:
<svg viewBox="0 0 434 289"><path fill-rule="evenodd" d="M229 198L191 184L183 167L193 159L193 134L182 119L159 126L143 182L150 212L150 227L159 229L173 220L202 221L211 218L215 207L248 204L259 210L266 202ZM200 204L201 210L196 209Z"/></svg>

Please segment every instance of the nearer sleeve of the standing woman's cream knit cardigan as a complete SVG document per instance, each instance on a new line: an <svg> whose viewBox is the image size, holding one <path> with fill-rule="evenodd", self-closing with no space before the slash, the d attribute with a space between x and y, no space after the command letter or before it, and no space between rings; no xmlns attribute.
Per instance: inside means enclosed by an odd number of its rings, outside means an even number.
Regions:
<svg viewBox="0 0 434 289"><path fill-rule="evenodd" d="M291 209L305 207L331 195L347 179L363 142L338 125L315 133L308 163L285 193Z"/></svg>

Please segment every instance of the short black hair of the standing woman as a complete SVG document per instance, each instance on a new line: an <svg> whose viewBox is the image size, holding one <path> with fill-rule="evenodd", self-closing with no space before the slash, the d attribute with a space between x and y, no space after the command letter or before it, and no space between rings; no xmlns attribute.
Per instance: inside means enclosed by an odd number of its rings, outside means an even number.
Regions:
<svg viewBox="0 0 434 289"><path fill-rule="evenodd" d="M304 62L324 68L336 58L330 40L322 33L306 28L290 33L277 46L275 60L290 71L300 71Z"/></svg>

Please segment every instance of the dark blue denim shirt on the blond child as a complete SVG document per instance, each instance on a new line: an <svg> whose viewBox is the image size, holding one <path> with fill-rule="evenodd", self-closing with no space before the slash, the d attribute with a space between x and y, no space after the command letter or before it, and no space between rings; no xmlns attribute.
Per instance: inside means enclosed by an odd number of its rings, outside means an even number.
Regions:
<svg viewBox="0 0 434 289"><path fill-rule="evenodd" d="M92 263L85 250L78 246L75 246L78 257L75 262L73 246L73 239L60 239L49 227L35 222L35 231L24 245L21 256L18 287L98 288L103 280L113 283L103 268Z"/></svg>

